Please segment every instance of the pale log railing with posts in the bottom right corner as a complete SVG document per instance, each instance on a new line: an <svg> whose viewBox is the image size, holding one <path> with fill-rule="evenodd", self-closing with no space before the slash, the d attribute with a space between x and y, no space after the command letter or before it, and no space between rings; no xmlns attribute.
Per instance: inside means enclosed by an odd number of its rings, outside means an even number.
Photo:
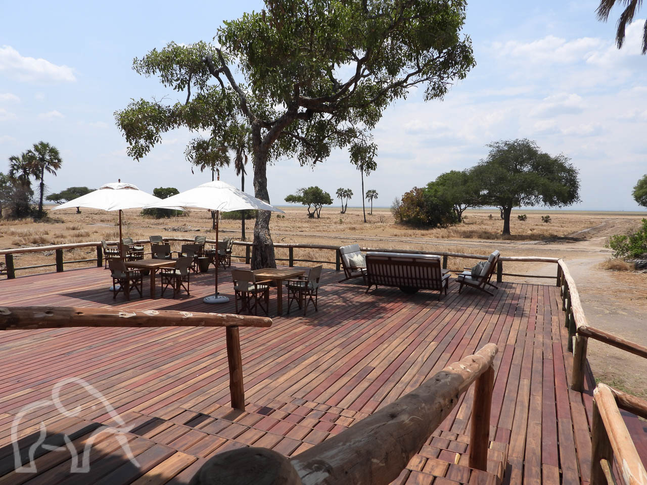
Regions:
<svg viewBox="0 0 647 485"><path fill-rule="evenodd" d="M620 415L624 409L647 419L647 402L605 384L598 384L593 397L591 485L615 485L614 461L624 484L647 485L647 473Z"/></svg>

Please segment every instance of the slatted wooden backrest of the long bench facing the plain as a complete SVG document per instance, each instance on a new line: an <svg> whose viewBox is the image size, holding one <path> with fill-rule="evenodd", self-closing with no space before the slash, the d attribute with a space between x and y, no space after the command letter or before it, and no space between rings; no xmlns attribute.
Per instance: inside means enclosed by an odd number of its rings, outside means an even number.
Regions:
<svg viewBox="0 0 647 485"><path fill-rule="evenodd" d="M369 252L366 270L370 285L427 290L443 287L441 257L436 255Z"/></svg>

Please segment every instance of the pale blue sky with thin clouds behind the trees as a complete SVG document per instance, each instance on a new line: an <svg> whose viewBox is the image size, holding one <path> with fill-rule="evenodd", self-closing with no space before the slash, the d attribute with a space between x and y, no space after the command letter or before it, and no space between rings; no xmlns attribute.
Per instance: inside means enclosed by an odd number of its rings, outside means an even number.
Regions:
<svg viewBox="0 0 647 485"><path fill-rule="evenodd" d="M116 178L152 191L192 188L210 175L192 175L184 160L191 138L175 131L135 162L113 113L130 98L177 94L131 70L132 60L169 41L210 40L223 20L259 10L234 2L0 1L0 171L7 158L45 140L63 156L52 191L96 188ZM640 38L647 8L613 45L615 19L599 23L597 1L473 1L464 33L477 66L444 100L418 92L391 106L375 129L378 169L365 179L378 206L450 169L473 166L494 140L531 138L549 153L570 156L580 169L582 210L639 210L631 189L647 172L647 58ZM248 170L251 173L251 169ZM221 178L239 185L232 170ZM311 169L294 160L269 167L270 199L318 185L355 192L360 179L345 151ZM247 191L251 189L248 179Z"/></svg>

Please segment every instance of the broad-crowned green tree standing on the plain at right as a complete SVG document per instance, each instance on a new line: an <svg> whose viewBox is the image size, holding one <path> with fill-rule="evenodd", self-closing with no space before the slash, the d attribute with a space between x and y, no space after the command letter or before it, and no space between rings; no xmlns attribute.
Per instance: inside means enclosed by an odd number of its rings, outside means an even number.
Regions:
<svg viewBox="0 0 647 485"><path fill-rule="evenodd" d="M578 171L565 155L551 156L527 139L488 145L487 158L472 169L481 203L503 211L503 234L510 235L513 207L562 207L579 202Z"/></svg>

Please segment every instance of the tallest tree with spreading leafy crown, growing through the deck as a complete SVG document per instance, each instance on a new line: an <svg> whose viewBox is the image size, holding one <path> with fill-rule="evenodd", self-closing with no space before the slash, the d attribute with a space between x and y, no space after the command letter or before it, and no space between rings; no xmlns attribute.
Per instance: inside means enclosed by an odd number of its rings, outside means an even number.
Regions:
<svg viewBox="0 0 647 485"><path fill-rule="evenodd" d="M226 21L219 47L170 44L135 59L135 70L159 76L186 101L133 101L116 113L141 158L180 126L228 133L252 130L256 197L269 202L267 165L280 156L315 164L334 147L369 139L392 102L419 86L442 98L474 66L461 36L465 0L278 0ZM236 69L237 68L237 69ZM209 77L211 76L211 78ZM252 268L276 266L270 213L254 226Z"/></svg>

